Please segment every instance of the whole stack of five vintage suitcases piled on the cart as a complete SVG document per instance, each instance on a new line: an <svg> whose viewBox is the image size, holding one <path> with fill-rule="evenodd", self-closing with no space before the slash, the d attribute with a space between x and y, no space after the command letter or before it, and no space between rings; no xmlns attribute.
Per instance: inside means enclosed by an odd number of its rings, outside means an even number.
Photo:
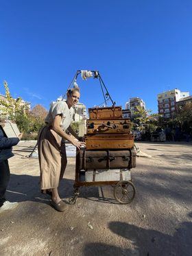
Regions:
<svg viewBox="0 0 192 256"><path fill-rule="evenodd" d="M86 148L78 152L78 169L85 181L128 181L136 165L130 119L123 118L121 106L89 108Z"/></svg>

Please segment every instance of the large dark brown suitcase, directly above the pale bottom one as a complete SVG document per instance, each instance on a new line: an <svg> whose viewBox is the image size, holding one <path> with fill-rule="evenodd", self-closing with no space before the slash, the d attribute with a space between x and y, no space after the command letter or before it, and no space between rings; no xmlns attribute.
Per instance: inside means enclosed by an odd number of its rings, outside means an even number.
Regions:
<svg viewBox="0 0 192 256"><path fill-rule="evenodd" d="M136 166L136 151L128 150L77 150L77 169L131 169Z"/></svg>

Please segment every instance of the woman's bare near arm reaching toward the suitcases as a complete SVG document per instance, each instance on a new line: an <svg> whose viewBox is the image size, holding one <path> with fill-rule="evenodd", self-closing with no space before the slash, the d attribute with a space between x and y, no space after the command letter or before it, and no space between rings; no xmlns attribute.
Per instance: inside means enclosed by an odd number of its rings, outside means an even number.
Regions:
<svg viewBox="0 0 192 256"><path fill-rule="evenodd" d="M84 142L76 141L75 139L73 139L73 137L67 135L67 133L62 130L62 128L60 127L61 120L62 120L62 116L56 115L56 117L53 119L53 124L52 124L53 130L58 135L60 135L60 137L62 137L63 139L67 139L67 141L71 142L78 149L80 149L81 146L85 146Z"/></svg>

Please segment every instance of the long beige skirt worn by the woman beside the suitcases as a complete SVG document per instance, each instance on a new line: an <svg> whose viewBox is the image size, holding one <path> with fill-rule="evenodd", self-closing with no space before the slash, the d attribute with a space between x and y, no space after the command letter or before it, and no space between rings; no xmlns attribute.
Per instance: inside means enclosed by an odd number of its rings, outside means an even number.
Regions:
<svg viewBox="0 0 192 256"><path fill-rule="evenodd" d="M38 134L38 160L40 165L40 188L58 187L67 165L64 141L50 127L43 127Z"/></svg>

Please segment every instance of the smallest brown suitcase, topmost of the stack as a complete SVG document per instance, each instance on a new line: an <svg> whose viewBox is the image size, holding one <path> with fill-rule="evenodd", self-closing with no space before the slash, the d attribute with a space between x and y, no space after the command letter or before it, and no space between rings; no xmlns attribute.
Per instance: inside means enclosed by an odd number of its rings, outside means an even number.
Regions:
<svg viewBox="0 0 192 256"><path fill-rule="evenodd" d="M123 118L121 106L110 106L105 108L88 108L90 119L115 119Z"/></svg>

